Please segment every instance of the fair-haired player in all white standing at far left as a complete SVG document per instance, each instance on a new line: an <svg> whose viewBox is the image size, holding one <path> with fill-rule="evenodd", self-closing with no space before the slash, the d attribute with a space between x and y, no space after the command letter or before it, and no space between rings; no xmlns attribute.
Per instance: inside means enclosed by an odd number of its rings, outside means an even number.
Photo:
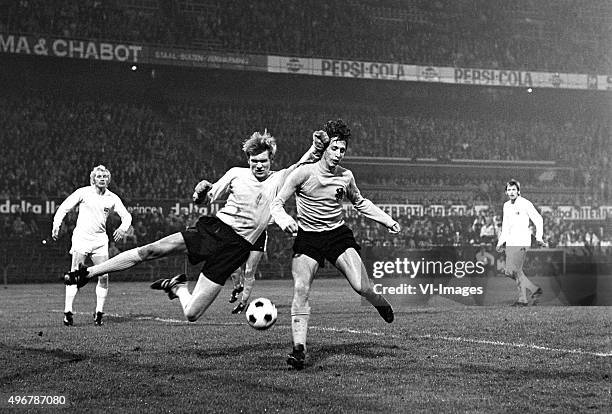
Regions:
<svg viewBox="0 0 612 414"><path fill-rule="evenodd" d="M108 236L106 234L106 219L111 211L121 217L121 225L113 233L115 242L121 240L132 224L132 216L126 210L121 199L108 189L111 180L110 171L103 165L98 165L89 174L89 187L82 187L70 194L58 207L53 217L51 237L57 240L60 227L66 214L79 207L76 227L72 233L72 270L77 270L89 257L94 264L108 260ZM79 288L75 285L66 286L64 304L64 325L71 326L73 322L74 298ZM96 310L94 322L102 325L104 303L108 295L108 274L101 273L96 286Z"/></svg>

